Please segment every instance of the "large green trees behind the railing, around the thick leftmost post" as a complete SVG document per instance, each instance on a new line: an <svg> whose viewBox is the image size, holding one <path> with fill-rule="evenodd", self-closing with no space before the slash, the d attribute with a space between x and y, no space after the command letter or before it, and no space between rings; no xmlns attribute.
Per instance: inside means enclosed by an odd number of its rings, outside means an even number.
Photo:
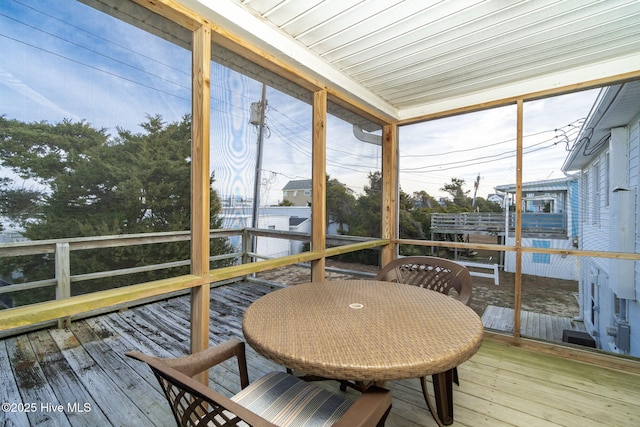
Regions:
<svg viewBox="0 0 640 427"><path fill-rule="evenodd" d="M144 132L118 129L115 137L88 123L23 123L0 117L1 165L36 183L20 191L0 187L2 214L30 240L101 236L190 228L191 120L164 123L147 117ZM211 187L210 187L211 188ZM220 200L210 190L211 227L219 228ZM212 240L213 254L228 252ZM81 274L189 258L187 242L74 251L71 271ZM25 281L53 277L51 257L21 257L3 263ZM181 271L158 270L136 277L81 282L72 293L148 281Z"/></svg>

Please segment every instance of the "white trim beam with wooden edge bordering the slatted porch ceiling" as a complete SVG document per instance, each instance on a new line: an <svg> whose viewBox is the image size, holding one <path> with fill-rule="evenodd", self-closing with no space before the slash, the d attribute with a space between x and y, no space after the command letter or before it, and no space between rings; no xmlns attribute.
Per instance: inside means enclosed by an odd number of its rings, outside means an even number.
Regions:
<svg viewBox="0 0 640 427"><path fill-rule="evenodd" d="M277 73L287 78L295 74L308 79L311 85L326 89L330 95L356 109L367 111L381 120L410 123L435 115L461 109L488 108L487 105L507 104L516 99L540 97L540 93L563 93L580 90L594 81L615 81L625 73L640 73L640 52L611 57L598 63L575 66L571 69L545 74L540 73L526 80L479 89L447 99L426 102L420 106L399 108L377 96L341 70L312 52L302 43L285 34L267 18L234 0L136 0L152 3L175 3L192 10L210 22L214 30L225 38L222 43L239 47L243 56L247 52L253 59L275 61ZM243 54L242 51L245 51ZM264 65L263 65L264 66ZM280 71L278 71L280 70ZM290 76L289 76L290 77Z"/></svg>

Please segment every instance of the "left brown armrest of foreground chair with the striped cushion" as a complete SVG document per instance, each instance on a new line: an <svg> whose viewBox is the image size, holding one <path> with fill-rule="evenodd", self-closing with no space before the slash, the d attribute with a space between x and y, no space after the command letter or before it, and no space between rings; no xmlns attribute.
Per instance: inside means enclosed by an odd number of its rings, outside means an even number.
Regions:
<svg viewBox="0 0 640 427"><path fill-rule="evenodd" d="M235 356L238 359L240 386L242 388L245 388L249 385L245 344L244 342L235 338L221 342L220 344L209 347L197 353L183 357L176 357L173 359L147 356L137 351L126 353L126 355L147 363L147 359L156 360L165 364L166 366L175 369L176 371L180 371L181 373L189 377L193 377L201 372L207 371L213 366Z"/></svg>

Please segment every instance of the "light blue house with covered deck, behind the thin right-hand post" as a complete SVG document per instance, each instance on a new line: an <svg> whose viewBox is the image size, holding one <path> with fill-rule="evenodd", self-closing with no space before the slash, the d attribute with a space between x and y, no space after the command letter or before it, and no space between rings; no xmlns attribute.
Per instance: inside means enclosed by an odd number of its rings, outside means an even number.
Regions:
<svg viewBox="0 0 640 427"><path fill-rule="evenodd" d="M501 185L496 192L515 200L516 186ZM505 244L515 245L513 208L506 204ZM522 245L533 248L575 249L578 241L578 178L566 177L522 184ZM504 271L515 272L515 253L507 252ZM522 254L522 274L578 280L575 256Z"/></svg>

